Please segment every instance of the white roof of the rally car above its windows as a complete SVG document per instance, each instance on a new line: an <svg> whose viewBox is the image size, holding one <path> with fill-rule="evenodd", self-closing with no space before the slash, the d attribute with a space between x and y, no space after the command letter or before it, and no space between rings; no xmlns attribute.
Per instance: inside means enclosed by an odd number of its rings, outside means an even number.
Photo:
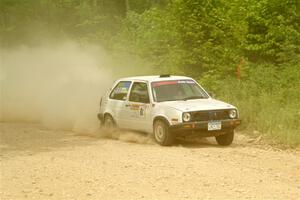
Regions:
<svg viewBox="0 0 300 200"><path fill-rule="evenodd" d="M163 76L160 75L156 76L133 76L133 77L126 77L120 78L118 81L148 81L148 82L155 82L155 81L169 81L169 80L182 80L182 79L192 79L187 76Z"/></svg>

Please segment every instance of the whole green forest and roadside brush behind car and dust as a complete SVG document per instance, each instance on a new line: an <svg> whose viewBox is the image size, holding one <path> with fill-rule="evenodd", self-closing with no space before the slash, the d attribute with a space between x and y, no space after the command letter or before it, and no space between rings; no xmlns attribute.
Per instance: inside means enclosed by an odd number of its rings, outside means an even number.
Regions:
<svg viewBox="0 0 300 200"><path fill-rule="evenodd" d="M72 40L178 74L240 110L239 128L300 144L297 0L0 0L0 45Z"/></svg>

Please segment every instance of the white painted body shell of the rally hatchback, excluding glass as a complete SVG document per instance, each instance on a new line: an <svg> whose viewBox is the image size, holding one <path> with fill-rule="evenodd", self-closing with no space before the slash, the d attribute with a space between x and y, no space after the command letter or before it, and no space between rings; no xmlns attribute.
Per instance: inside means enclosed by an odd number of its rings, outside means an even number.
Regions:
<svg viewBox="0 0 300 200"><path fill-rule="evenodd" d="M113 87L102 98L100 113L102 115L110 114L120 128L133 129L152 133L153 122L157 117L164 118L168 121L169 125L182 123L183 112L193 111L209 111L209 110L222 110L222 109L236 109L236 107L211 98L207 99L189 99L179 101L165 101L155 102L152 95L151 83L156 81L175 81L175 80L195 80L184 76L138 76L122 78L117 80ZM132 81L129 88L126 100L110 99L109 94L120 81ZM130 102L129 94L134 82L147 83L150 103ZM199 84L198 84L199 85ZM199 85L200 86L200 85ZM201 86L200 86L201 87ZM202 87L201 87L202 88ZM202 88L203 89L203 88ZM204 89L203 89L204 90ZM204 90L205 91L205 90Z"/></svg>

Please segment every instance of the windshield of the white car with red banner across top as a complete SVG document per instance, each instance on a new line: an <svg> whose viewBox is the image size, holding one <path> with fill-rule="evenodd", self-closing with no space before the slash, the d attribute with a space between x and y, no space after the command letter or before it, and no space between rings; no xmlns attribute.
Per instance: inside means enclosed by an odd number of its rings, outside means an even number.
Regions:
<svg viewBox="0 0 300 200"><path fill-rule="evenodd" d="M158 81L151 86L157 102L208 98L207 93L193 80Z"/></svg>

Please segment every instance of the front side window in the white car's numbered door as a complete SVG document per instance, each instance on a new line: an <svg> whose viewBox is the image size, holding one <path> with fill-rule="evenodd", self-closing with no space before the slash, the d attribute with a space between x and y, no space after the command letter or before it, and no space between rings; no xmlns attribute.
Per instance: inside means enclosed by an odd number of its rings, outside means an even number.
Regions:
<svg viewBox="0 0 300 200"><path fill-rule="evenodd" d="M147 83L135 82L132 85L129 101L150 103Z"/></svg>

